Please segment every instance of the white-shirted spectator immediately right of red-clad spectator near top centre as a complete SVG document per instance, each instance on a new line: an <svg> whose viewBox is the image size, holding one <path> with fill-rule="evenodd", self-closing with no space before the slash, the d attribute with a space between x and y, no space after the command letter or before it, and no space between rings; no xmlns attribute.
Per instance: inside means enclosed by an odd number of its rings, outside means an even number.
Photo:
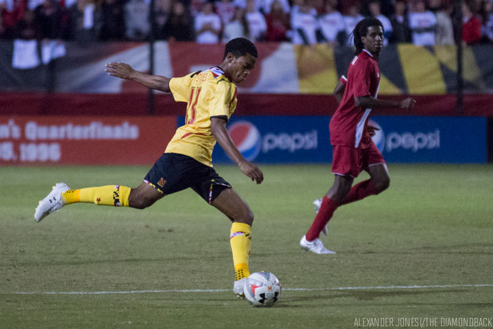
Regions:
<svg viewBox="0 0 493 329"><path fill-rule="evenodd" d="M316 10L312 0L300 0L292 8L291 27L293 44L316 44L325 41L316 19Z"/></svg>

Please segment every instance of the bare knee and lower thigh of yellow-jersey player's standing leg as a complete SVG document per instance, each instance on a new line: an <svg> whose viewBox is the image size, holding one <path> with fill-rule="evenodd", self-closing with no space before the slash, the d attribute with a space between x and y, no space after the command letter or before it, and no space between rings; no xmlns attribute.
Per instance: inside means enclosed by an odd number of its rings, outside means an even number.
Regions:
<svg viewBox="0 0 493 329"><path fill-rule="evenodd" d="M234 189L223 189L211 205L224 213L232 222L253 224L253 213L249 205Z"/></svg>

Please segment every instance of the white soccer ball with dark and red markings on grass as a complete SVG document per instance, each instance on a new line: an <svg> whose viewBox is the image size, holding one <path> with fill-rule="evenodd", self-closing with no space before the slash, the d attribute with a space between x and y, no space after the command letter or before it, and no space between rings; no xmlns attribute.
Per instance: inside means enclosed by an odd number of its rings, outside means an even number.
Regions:
<svg viewBox="0 0 493 329"><path fill-rule="evenodd" d="M243 293L250 304L269 307L281 297L281 284L270 272L255 272L245 281Z"/></svg>

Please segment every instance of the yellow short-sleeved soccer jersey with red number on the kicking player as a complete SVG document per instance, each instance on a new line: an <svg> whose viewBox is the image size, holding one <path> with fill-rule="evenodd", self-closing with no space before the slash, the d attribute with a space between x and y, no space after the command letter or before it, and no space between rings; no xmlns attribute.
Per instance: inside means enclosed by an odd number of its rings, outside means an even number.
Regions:
<svg viewBox="0 0 493 329"><path fill-rule="evenodd" d="M218 67L173 78L169 85L175 101L188 105L185 125L177 129L164 152L188 155L212 167L216 138L211 132L210 118L231 117L236 109L236 85Z"/></svg>

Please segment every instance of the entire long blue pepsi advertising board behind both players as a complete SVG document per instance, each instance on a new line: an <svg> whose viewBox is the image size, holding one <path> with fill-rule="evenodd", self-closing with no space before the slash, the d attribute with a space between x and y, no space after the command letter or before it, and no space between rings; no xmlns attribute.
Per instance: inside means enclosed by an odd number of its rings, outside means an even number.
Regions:
<svg viewBox="0 0 493 329"><path fill-rule="evenodd" d="M255 163L330 163L330 116L233 116L231 139ZM184 117L178 119L178 124ZM486 118L370 116L373 141L391 163L486 163ZM232 163L216 144L213 163Z"/></svg>

